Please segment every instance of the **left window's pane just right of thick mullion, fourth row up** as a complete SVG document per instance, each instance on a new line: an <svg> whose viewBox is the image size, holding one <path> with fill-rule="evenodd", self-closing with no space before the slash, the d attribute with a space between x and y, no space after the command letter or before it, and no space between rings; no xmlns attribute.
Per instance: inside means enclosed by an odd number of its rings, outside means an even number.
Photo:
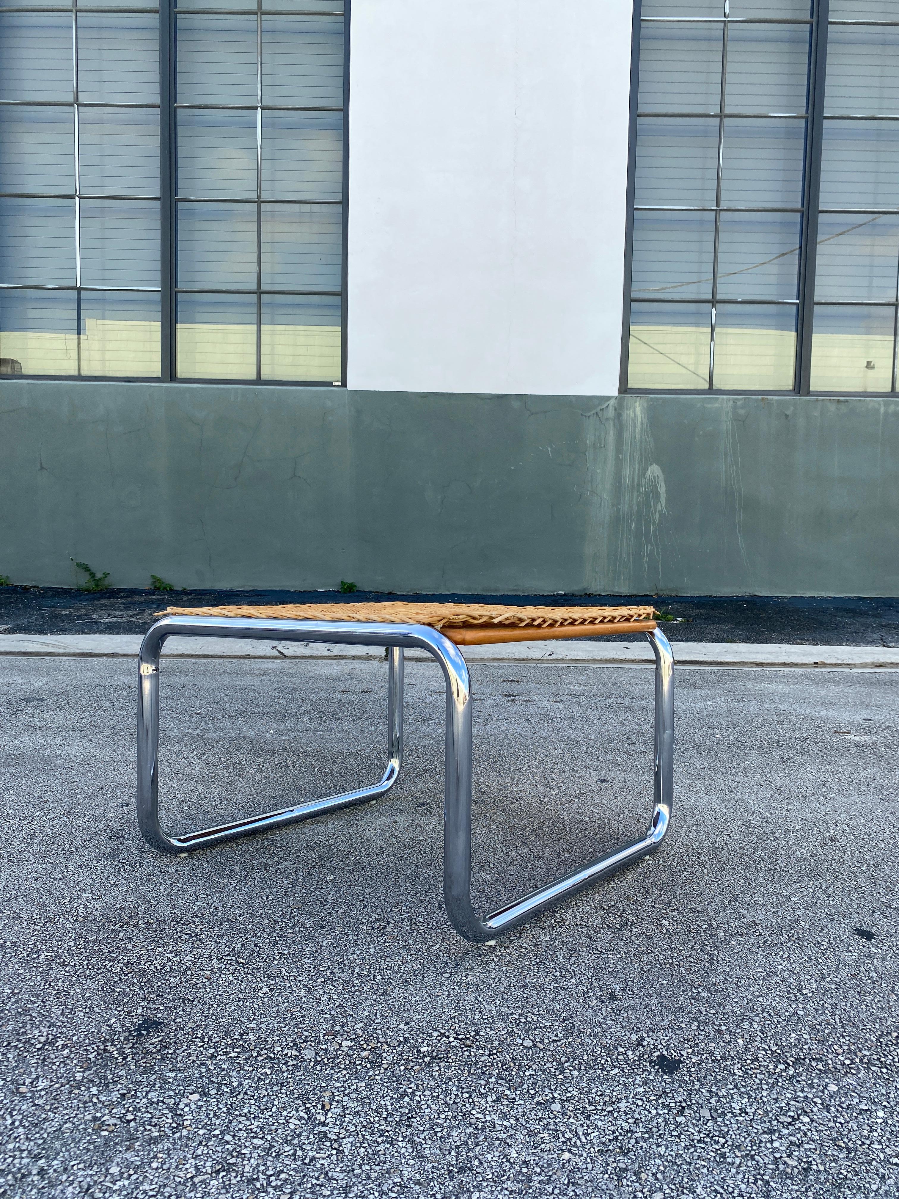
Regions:
<svg viewBox="0 0 899 1199"><path fill-rule="evenodd" d="M255 104L255 17L177 18L181 104Z"/></svg>

